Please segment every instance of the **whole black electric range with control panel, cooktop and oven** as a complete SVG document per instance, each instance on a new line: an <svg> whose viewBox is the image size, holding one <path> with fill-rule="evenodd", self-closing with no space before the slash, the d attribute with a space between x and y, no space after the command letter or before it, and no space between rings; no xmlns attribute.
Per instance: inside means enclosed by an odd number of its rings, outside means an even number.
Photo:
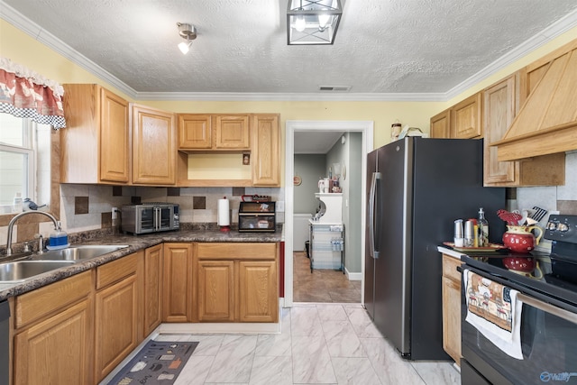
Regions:
<svg viewBox="0 0 577 385"><path fill-rule="evenodd" d="M462 257L463 270L518 290L517 298L523 303L521 360L504 353L465 320L463 287L463 385L577 384L577 215L551 215L544 236L553 241L551 254L531 252L542 261L545 277L541 280L507 270L502 261L505 254ZM550 267L547 260L551 260Z"/></svg>

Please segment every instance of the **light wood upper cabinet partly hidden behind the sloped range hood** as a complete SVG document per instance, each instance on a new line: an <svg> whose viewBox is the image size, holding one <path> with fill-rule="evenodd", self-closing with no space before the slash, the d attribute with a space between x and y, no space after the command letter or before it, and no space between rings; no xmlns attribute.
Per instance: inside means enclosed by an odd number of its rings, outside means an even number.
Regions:
<svg viewBox="0 0 577 385"><path fill-rule="evenodd" d="M556 186L564 183L564 153L499 161L497 147L491 146L503 138L519 111L526 92L523 71L486 88L483 92L483 180L488 187Z"/></svg>

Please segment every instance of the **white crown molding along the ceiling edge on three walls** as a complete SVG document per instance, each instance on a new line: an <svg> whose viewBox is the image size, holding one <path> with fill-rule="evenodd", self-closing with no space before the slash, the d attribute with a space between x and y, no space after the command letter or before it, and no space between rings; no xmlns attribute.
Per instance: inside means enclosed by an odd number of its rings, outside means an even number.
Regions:
<svg viewBox="0 0 577 385"><path fill-rule="evenodd" d="M471 78L465 79L462 83L451 88L444 93L229 93L229 92L137 92L133 87L129 87L120 79L114 77L110 72L96 65L92 60L74 50L64 41L41 28L30 19L20 14L10 5L3 4L0 7L0 17L6 22L13 24L19 30L29 34L33 39L40 41L52 50L55 50L66 59L77 64L82 69L100 78L116 89L124 92L125 95L134 100L205 100L205 101L362 101L362 102L382 102L382 101L410 101L410 102L446 102L454 96L458 96L469 88L474 87L485 78L504 69L509 64L514 63L533 50L541 47L545 43L552 41L557 36L567 32L577 26L577 10L571 14L563 16L559 21L551 24L542 32L521 43L517 48L493 61L474 74Z"/></svg>

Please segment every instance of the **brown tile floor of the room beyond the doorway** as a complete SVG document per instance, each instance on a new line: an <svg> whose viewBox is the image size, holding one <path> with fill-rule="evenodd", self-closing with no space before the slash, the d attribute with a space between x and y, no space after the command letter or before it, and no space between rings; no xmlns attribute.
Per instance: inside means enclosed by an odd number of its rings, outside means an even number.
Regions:
<svg viewBox="0 0 577 385"><path fill-rule="evenodd" d="M343 271L313 270L307 252L293 252L293 300L316 303L361 303L361 281Z"/></svg>

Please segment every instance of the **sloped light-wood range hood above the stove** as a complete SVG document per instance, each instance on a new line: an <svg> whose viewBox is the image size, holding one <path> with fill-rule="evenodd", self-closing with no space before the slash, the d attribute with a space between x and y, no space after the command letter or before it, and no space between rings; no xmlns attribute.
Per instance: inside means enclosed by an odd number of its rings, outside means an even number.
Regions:
<svg viewBox="0 0 577 385"><path fill-rule="evenodd" d="M499 161L577 150L577 41L559 49L497 146Z"/></svg>

